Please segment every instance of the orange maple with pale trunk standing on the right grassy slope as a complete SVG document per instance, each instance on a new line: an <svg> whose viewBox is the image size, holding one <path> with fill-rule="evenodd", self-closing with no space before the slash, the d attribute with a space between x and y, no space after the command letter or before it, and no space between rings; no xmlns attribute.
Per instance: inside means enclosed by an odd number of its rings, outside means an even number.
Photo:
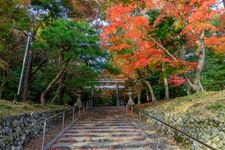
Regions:
<svg viewBox="0 0 225 150"><path fill-rule="evenodd" d="M206 32L216 31L216 27L210 22L218 15L218 11L212 9L212 6L216 4L216 0L190 0L188 2L159 0L157 4L161 4L162 7L160 8L161 15L157 19L156 24L163 20L165 16L172 16L183 27L180 36L186 37L185 47L194 49L198 57L194 79L191 80L186 75L185 79L196 92L203 92L204 89L200 77L205 62L206 47L204 38L206 37Z"/></svg>

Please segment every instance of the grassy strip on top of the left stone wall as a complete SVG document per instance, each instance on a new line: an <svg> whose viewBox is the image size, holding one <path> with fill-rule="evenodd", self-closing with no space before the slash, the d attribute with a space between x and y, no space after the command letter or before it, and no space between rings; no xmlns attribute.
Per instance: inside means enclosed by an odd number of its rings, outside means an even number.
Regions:
<svg viewBox="0 0 225 150"><path fill-rule="evenodd" d="M64 106L58 105L47 105L42 106L40 104L27 104L27 103L20 103L17 102L13 104L10 101L0 100L0 117L4 115L18 115L22 113L30 113L34 111L48 111L48 110L57 110L63 109Z"/></svg>

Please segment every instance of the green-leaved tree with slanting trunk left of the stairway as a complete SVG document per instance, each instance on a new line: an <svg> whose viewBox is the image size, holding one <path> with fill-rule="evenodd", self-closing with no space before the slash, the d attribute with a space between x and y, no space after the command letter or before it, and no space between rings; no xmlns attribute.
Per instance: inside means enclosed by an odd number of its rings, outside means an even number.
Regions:
<svg viewBox="0 0 225 150"><path fill-rule="evenodd" d="M98 35L86 22L59 19L46 26L40 37L41 44L51 57L49 63L56 69L55 76L41 94L41 103L45 104L46 96L56 82L69 73L69 66L76 67L85 58L96 57L99 51Z"/></svg>

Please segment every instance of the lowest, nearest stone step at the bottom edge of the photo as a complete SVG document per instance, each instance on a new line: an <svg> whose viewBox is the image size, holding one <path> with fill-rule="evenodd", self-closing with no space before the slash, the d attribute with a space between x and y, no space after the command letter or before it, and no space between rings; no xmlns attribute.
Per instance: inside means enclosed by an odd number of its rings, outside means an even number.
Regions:
<svg viewBox="0 0 225 150"><path fill-rule="evenodd" d="M113 149L113 148L150 148L149 141L137 141L137 142L81 142L81 143L56 143L52 148L70 148L70 149Z"/></svg>

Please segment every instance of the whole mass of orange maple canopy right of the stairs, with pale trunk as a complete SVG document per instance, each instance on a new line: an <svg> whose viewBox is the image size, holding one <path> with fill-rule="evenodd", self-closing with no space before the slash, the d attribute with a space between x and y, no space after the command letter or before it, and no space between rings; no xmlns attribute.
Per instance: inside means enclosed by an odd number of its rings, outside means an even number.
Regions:
<svg viewBox="0 0 225 150"><path fill-rule="evenodd" d="M131 75L130 72L146 67L162 73L166 68L172 69L164 76L169 83L179 86L186 82L193 90L204 91L200 77L206 46L217 52L224 47L222 24L213 24L213 20L222 18L224 12L223 9L215 9L216 4L215 0L143 0L126 5L115 4L106 12L109 25L103 28L102 46L114 55L115 65L125 74ZM151 11L158 11L152 24L148 15ZM176 34L166 39L159 38L155 32L168 18L174 20L170 28ZM184 42L171 48L167 44L169 40ZM181 51L183 56L177 55ZM186 60L184 55L188 53L193 53L196 60ZM193 78L189 77L190 72L195 74Z"/></svg>

